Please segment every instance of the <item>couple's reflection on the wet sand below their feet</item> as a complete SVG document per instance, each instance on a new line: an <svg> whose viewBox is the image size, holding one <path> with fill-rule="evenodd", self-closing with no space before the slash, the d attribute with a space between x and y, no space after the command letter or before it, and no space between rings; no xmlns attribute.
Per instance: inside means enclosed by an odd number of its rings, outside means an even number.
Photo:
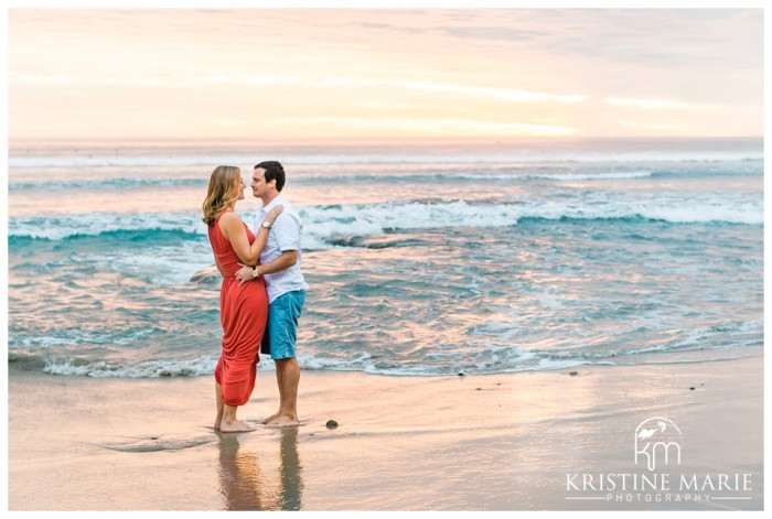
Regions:
<svg viewBox="0 0 772 519"><path fill-rule="evenodd" d="M219 436L219 491L226 510L300 510L303 484L297 429L281 431L277 472L261 468L257 453L244 448L238 434Z"/></svg>

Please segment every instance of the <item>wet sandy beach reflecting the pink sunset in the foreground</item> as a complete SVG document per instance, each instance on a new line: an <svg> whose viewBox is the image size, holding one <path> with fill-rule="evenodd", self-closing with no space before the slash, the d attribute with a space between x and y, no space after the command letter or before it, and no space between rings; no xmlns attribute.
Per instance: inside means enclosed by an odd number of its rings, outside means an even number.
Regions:
<svg viewBox="0 0 772 519"><path fill-rule="evenodd" d="M755 354L575 375L303 371L303 426L222 435L212 430L208 377L94 379L11 367L9 508L760 510ZM257 422L276 397L274 372L260 371L240 417ZM683 433L669 483L621 491L618 478L615 491L598 490L600 474L651 475L634 463L634 434L654 417ZM329 420L339 426L328 429ZM736 475L741 488L729 488Z"/></svg>

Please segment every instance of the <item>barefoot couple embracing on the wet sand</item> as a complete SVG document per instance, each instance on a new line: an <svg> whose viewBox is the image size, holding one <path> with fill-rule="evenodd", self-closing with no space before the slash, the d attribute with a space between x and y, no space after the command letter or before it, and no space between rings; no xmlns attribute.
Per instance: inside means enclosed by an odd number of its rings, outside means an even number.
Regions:
<svg viewBox="0 0 772 519"><path fill-rule="evenodd" d="M305 283L300 272L302 223L281 196L285 170L279 162L255 166L253 195L262 201L255 231L236 214L246 185L235 166L217 166L210 177L203 220L208 227L215 264L223 275L219 294L223 352L215 368L215 430L255 429L236 418L255 388L259 353L276 363L279 410L266 426L299 424L297 400L300 367L294 344Z"/></svg>

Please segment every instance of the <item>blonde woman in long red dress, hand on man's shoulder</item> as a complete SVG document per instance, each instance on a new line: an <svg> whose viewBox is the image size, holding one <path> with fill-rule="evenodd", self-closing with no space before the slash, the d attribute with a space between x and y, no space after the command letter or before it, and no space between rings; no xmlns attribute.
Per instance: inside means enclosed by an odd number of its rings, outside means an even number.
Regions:
<svg viewBox="0 0 772 519"><path fill-rule="evenodd" d="M262 279L239 283L239 262L254 266L268 239L269 228L260 226L257 237L234 210L244 199L242 171L217 166L210 177L203 204L204 223L217 270L223 274L219 292L219 321L223 324L223 353L214 370L217 417L214 428L221 432L251 431L255 428L236 419L236 410L249 400L257 376L258 350L268 318L268 298ZM278 210L277 210L278 209ZM282 207L266 216L272 225Z"/></svg>

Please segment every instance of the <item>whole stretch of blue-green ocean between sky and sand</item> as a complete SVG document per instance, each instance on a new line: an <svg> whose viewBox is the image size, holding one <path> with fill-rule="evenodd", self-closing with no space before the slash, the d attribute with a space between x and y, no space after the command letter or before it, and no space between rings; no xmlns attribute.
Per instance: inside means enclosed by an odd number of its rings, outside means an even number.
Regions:
<svg viewBox="0 0 772 519"><path fill-rule="evenodd" d="M761 138L13 142L11 368L212 376L201 204L216 165L248 185L262 160L285 164L304 225L302 369L580 371L763 346Z"/></svg>

